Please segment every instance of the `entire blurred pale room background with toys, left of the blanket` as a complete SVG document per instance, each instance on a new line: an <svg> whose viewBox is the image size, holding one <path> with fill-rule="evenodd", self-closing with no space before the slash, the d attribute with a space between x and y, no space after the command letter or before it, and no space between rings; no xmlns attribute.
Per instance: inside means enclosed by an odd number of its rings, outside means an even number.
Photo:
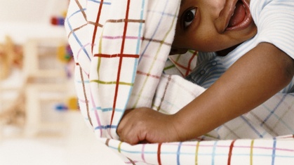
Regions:
<svg viewBox="0 0 294 165"><path fill-rule="evenodd" d="M69 1L0 3L0 164L122 164L79 113Z"/></svg>

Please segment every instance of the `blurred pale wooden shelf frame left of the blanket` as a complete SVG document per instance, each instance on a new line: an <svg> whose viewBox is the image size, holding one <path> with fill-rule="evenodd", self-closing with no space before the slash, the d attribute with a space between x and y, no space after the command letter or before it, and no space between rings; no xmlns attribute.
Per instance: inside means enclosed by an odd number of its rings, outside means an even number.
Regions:
<svg viewBox="0 0 294 165"><path fill-rule="evenodd" d="M57 58L63 39L30 39L24 46L26 77L25 136L57 132L67 126L55 104L67 98L68 79L65 64Z"/></svg>

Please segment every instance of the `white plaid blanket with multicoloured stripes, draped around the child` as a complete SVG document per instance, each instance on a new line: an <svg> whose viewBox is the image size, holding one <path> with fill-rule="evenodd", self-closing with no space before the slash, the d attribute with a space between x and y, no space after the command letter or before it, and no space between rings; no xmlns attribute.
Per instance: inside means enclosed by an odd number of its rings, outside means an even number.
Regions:
<svg viewBox="0 0 294 165"><path fill-rule="evenodd" d="M196 65L196 52L168 56L179 7L180 0L70 1L65 28L76 61L76 93L98 140L126 164L294 162L292 93L274 95L199 141L119 141L116 128L125 110L152 107L173 114L205 91L183 78Z"/></svg>

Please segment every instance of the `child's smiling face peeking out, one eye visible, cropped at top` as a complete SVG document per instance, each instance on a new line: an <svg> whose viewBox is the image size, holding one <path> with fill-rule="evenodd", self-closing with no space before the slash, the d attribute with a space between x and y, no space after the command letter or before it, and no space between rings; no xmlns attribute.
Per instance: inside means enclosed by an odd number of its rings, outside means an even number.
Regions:
<svg viewBox="0 0 294 165"><path fill-rule="evenodd" d="M250 0L182 0L173 48L221 51L250 39L257 28L249 3Z"/></svg>

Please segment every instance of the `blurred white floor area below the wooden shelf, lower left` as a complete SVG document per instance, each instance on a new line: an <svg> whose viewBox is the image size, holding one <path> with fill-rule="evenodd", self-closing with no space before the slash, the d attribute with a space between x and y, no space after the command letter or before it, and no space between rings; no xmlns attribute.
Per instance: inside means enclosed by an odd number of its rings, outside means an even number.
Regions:
<svg viewBox="0 0 294 165"><path fill-rule="evenodd" d="M72 129L66 138L16 138L0 142L0 164L124 164L117 154L94 137L79 112L70 112L68 117L72 120Z"/></svg>

